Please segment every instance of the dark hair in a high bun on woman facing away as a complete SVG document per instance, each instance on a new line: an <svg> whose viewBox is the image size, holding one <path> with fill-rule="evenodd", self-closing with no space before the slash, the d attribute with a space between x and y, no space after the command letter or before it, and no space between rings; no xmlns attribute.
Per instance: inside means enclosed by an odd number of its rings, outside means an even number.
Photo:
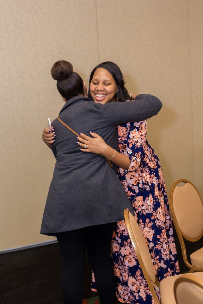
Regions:
<svg viewBox="0 0 203 304"><path fill-rule="evenodd" d="M70 62L65 60L55 62L51 68L51 76L57 80L58 92L66 100L84 94L83 80L78 73L73 72Z"/></svg>

